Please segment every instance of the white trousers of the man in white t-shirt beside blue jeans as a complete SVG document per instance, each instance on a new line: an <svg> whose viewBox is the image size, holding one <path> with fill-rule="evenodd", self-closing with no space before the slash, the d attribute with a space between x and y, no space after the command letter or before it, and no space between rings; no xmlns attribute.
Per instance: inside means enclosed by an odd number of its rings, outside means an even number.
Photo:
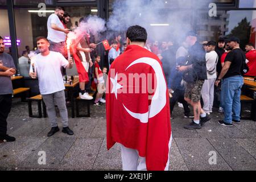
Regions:
<svg viewBox="0 0 256 182"><path fill-rule="evenodd" d="M211 78L204 81L204 85L201 91L202 98L204 101L203 110L206 113L209 113L209 110L212 110L213 99L214 99L214 82L216 78Z"/></svg>

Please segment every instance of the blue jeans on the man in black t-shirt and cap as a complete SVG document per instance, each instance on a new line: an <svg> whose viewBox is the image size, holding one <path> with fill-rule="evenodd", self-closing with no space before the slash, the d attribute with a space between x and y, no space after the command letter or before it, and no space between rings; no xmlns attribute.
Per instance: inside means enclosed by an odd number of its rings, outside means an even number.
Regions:
<svg viewBox="0 0 256 182"><path fill-rule="evenodd" d="M240 121L240 96L243 85L242 76L225 78L221 84L224 107L224 122L232 123L232 119Z"/></svg>

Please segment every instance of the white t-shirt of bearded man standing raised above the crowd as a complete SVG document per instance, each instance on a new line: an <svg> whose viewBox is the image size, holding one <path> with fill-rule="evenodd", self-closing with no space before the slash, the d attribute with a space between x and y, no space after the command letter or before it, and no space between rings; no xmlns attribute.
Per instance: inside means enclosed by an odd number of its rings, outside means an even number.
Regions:
<svg viewBox="0 0 256 182"><path fill-rule="evenodd" d="M47 20L47 30L48 30L48 36L47 39L51 40L52 42L59 43L63 42L66 39L66 34L61 31L57 31L52 29L51 23L56 24L57 27L63 28L64 26L61 23L59 17L56 14L51 14Z"/></svg>

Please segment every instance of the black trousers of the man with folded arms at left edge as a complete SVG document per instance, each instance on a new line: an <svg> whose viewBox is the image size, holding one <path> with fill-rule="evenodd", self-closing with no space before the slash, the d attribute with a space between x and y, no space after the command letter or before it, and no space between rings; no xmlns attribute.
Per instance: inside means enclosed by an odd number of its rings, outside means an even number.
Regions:
<svg viewBox="0 0 256 182"><path fill-rule="evenodd" d="M7 117L11 111L12 95L0 95L0 136L5 136L7 132Z"/></svg>

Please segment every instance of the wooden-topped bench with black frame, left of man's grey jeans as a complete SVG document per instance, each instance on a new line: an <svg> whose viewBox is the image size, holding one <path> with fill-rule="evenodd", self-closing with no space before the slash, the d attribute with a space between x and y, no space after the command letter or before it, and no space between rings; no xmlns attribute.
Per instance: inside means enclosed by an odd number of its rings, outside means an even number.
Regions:
<svg viewBox="0 0 256 182"><path fill-rule="evenodd" d="M27 101L28 101L29 116L32 118L42 118L42 106L41 106L41 102L43 101L42 95L37 95L34 97L27 98ZM37 115L32 113L32 101L38 103L38 114ZM44 115L44 118L46 118L46 105L44 104L44 101L43 101L43 115Z"/></svg>

